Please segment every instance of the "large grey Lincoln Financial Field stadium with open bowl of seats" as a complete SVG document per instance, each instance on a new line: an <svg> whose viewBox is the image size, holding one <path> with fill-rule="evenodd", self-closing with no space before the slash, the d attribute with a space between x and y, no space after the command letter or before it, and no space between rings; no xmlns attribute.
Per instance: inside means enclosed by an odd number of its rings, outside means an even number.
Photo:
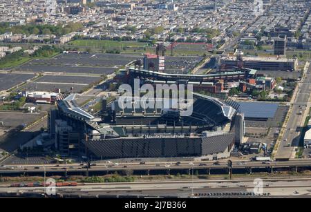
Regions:
<svg viewBox="0 0 311 212"><path fill-rule="evenodd" d="M237 115L238 104L198 93L193 97L194 113L183 117L178 110L120 108L119 98L109 103L102 99L101 112L91 115L77 106L75 95L69 95L51 111L49 131L62 155L229 157L234 144L243 137L244 121Z"/></svg>

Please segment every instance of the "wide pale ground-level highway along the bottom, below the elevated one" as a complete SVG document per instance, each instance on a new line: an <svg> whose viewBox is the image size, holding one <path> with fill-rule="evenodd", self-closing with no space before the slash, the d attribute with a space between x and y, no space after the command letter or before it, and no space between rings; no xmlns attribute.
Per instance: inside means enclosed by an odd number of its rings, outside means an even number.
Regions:
<svg viewBox="0 0 311 212"><path fill-rule="evenodd" d="M263 190L254 189L254 180L180 180L159 182L80 183L75 187L56 187L58 194L85 196L162 196L162 197L307 197L311 179L263 179ZM1 193L44 193L42 187L10 187L0 185Z"/></svg>

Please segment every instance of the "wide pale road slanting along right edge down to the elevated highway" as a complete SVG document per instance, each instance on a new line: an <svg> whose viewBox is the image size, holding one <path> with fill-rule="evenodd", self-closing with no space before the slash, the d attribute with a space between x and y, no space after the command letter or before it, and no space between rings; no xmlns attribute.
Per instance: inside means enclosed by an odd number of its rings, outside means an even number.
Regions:
<svg viewBox="0 0 311 212"><path fill-rule="evenodd" d="M285 126L285 131L281 139L280 146L277 150L276 157L279 159L292 158L294 157L294 148L298 146L300 133L301 133L301 123L303 124L303 113L309 112L309 98L310 98L310 88L311 84L311 66L309 66L305 77L298 84L298 91L296 96L293 97L292 104L292 113L288 119L288 124ZM303 111L299 115L299 111ZM290 145L288 145L288 143Z"/></svg>

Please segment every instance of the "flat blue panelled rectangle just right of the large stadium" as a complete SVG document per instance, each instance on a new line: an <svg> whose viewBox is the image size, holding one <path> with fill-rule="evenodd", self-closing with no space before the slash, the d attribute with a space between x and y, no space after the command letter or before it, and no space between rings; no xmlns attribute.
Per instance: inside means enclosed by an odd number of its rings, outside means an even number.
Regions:
<svg viewBox="0 0 311 212"><path fill-rule="evenodd" d="M279 104L265 102L238 102L245 118L273 118Z"/></svg>

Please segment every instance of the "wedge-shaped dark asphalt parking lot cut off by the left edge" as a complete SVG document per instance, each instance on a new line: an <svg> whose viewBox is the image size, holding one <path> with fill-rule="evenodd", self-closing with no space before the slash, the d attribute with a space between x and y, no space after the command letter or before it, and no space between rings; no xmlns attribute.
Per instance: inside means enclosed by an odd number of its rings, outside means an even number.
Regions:
<svg viewBox="0 0 311 212"><path fill-rule="evenodd" d="M0 90L8 90L23 81L35 77L33 74L0 73Z"/></svg>

